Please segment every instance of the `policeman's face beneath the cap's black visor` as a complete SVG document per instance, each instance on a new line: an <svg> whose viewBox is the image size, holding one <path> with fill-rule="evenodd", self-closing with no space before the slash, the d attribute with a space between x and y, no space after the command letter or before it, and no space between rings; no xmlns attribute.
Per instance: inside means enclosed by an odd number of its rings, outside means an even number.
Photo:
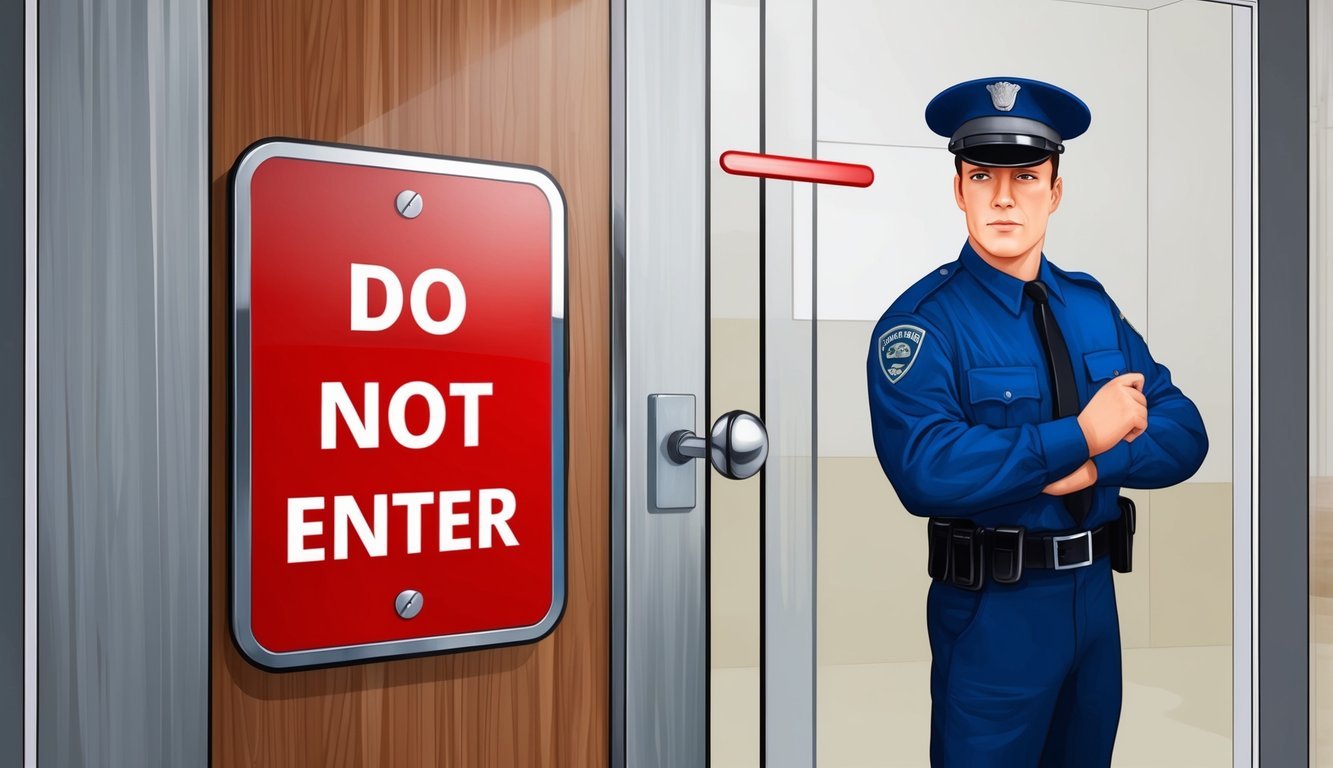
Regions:
<svg viewBox="0 0 1333 768"><path fill-rule="evenodd" d="M1060 207L1064 177L1050 184L1052 164L992 168L962 161L953 177L953 195L968 216L973 243L997 259L1041 252L1046 220Z"/></svg>

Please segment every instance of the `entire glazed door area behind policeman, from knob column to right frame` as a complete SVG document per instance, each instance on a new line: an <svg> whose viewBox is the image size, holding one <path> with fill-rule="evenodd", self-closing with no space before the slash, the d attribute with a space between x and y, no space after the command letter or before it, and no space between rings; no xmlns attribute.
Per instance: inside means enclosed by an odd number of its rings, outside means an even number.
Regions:
<svg viewBox="0 0 1333 768"><path fill-rule="evenodd" d="M928 763L925 520L880 469L865 360L888 304L966 239L925 105L990 75L1089 104L1044 252L1096 276L1209 435L1185 483L1122 491L1140 523L1114 581L1116 763L1248 764L1252 12L712 0L708 423L745 408L769 435L758 477L709 481L712 764ZM876 180L730 176L729 149Z"/></svg>

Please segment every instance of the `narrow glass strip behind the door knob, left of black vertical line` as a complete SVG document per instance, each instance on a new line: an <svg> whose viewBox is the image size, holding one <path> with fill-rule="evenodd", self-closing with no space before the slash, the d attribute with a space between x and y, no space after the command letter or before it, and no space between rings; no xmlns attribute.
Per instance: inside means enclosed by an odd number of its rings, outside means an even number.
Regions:
<svg viewBox="0 0 1333 768"><path fill-rule="evenodd" d="M718 167L758 148L758 0L710 4L708 424L760 411L760 183ZM760 483L709 472L713 765L760 765Z"/></svg>

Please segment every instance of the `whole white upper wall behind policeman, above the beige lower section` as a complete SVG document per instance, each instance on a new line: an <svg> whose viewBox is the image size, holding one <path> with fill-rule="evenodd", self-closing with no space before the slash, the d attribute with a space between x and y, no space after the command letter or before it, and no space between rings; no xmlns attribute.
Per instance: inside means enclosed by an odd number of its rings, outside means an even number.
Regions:
<svg viewBox="0 0 1333 768"><path fill-rule="evenodd" d="M818 192L821 456L874 455L862 372L870 328L966 239L953 159L926 128L925 104L994 73L1048 80L1089 104L1088 133L1061 157L1065 196L1045 253L1094 275L1198 404L1212 448L1192 481L1229 481L1229 25L1226 5L1200 0L1156 11L1049 0L820 7L820 157L876 172L866 189ZM793 312L809 317L810 304Z"/></svg>

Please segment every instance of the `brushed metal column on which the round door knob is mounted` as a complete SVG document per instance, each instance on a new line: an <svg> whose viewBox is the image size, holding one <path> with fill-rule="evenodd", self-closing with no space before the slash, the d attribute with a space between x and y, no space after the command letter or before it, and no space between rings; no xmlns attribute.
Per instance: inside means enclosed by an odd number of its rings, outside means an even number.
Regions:
<svg viewBox="0 0 1333 768"><path fill-rule="evenodd" d="M645 468L649 395L694 395L708 427L708 4L617 0L612 24L612 765L704 765L708 465L672 511Z"/></svg>

